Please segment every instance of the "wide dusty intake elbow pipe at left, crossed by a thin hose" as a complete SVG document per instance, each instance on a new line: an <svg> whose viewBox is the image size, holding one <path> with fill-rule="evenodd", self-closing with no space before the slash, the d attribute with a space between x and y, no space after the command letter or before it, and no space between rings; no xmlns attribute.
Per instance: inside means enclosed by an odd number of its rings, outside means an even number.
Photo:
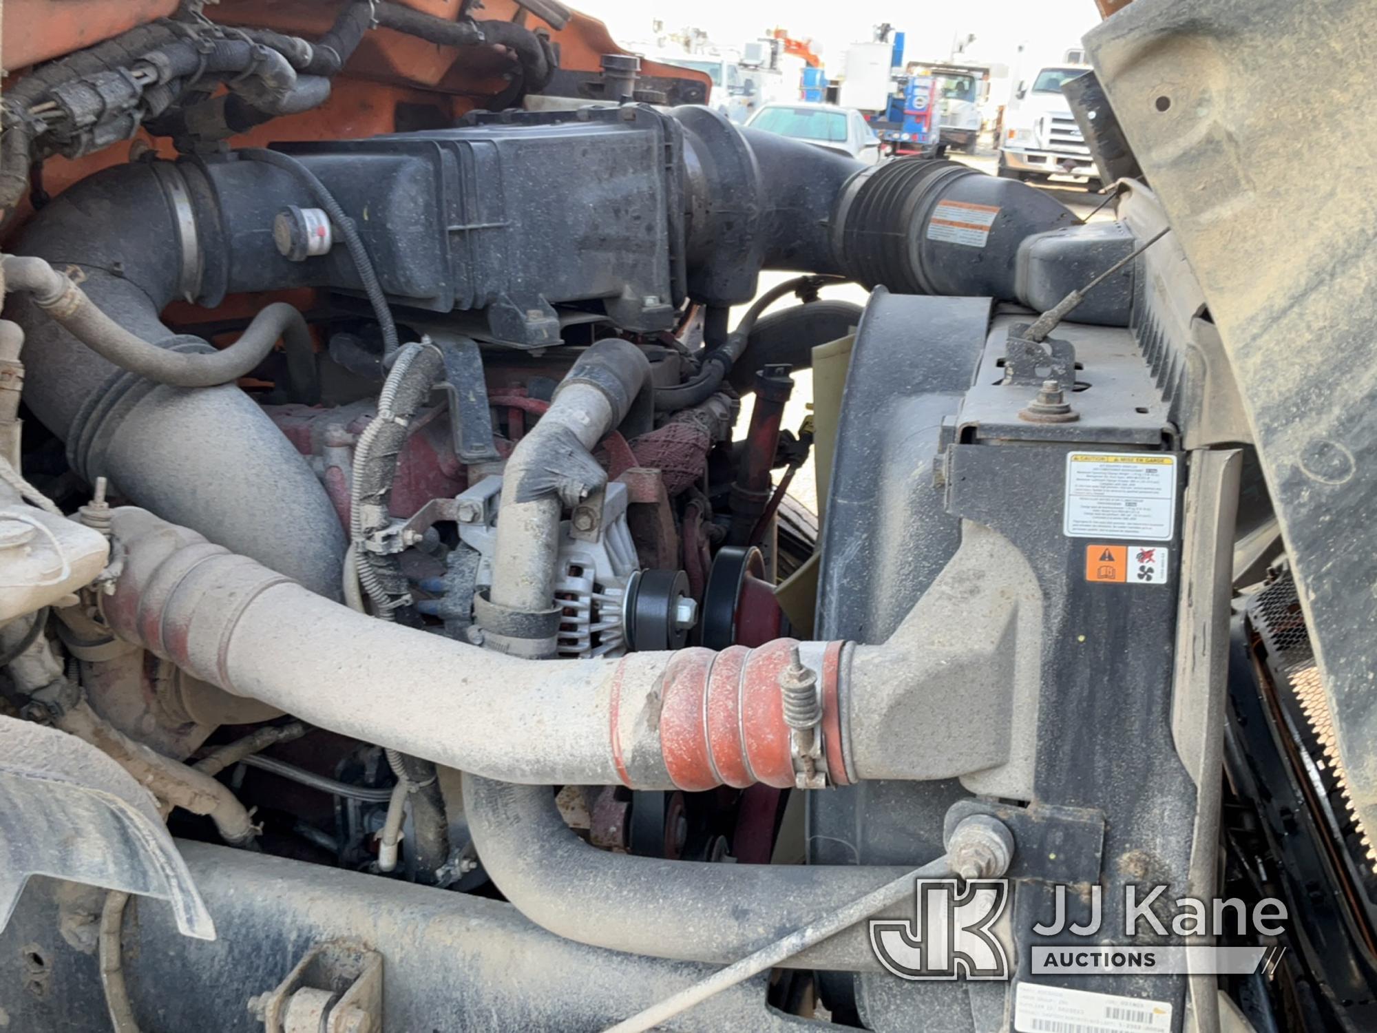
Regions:
<svg viewBox="0 0 1377 1033"><path fill-rule="evenodd" d="M175 336L160 313L197 296L202 281L222 295L257 286L248 270L226 271L222 226L251 222L196 205L205 180L185 169L134 164L91 176L39 212L17 249L78 282L131 339L211 351ZM107 477L127 499L337 598L344 529L306 459L249 395L146 380L94 354L34 298L7 300L28 340L25 402L67 444L73 470L91 483Z"/></svg>

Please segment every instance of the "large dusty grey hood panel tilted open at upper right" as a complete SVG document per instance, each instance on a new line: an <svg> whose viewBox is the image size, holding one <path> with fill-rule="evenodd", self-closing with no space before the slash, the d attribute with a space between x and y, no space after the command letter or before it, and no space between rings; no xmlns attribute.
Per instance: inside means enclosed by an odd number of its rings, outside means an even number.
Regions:
<svg viewBox="0 0 1377 1033"><path fill-rule="evenodd" d="M1334 712L1354 807L1377 821L1377 197L1308 154L1374 156L1377 22L1319 0L1137 0L1091 58L1172 219L1252 424ZM1287 95L1278 69L1319 90Z"/></svg>

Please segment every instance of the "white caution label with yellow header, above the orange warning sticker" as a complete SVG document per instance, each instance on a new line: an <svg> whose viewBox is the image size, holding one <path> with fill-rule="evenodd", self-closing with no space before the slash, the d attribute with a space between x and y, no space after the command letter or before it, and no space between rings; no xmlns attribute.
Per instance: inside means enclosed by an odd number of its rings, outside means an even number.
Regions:
<svg viewBox="0 0 1377 1033"><path fill-rule="evenodd" d="M1073 539L1170 541L1176 530L1176 456L1070 452L1062 533Z"/></svg>

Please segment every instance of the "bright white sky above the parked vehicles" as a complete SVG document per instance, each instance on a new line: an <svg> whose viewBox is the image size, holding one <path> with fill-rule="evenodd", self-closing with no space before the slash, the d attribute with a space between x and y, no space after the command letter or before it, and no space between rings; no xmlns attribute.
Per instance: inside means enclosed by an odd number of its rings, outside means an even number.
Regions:
<svg viewBox="0 0 1377 1033"><path fill-rule="evenodd" d="M600 18L618 43L650 39L650 22L669 29L704 29L722 47L739 48L774 26L808 39L826 65L840 69L847 44L872 39L872 26L891 22L906 33L907 61L945 59L956 33L975 33L972 61L1015 62L1023 43L1036 61L1059 61L1099 22L1093 0L574 0Z"/></svg>

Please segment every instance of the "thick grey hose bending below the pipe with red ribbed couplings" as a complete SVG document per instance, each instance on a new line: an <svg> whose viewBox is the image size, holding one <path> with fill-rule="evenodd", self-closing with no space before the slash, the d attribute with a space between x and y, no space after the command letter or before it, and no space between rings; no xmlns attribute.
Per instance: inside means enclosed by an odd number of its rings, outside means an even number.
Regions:
<svg viewBox="0 0 1377 1033"><path fill-rule="evenodd" d="M566 939L651 957L730 964L907 870L613 854L565 825L552 789L468 773L464 813L483 868L522 915ZM907 917L913 917L912 898ZM865 926L839 932L784 966L880 968Z"/></svg>

